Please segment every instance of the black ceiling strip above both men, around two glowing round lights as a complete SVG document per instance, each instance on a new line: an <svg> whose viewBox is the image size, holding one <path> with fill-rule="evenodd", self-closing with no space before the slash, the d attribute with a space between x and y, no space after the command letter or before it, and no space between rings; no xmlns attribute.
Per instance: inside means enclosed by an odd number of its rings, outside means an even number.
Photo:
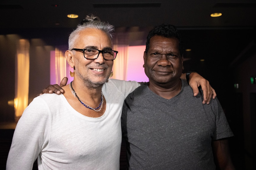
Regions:
<svg viewBox="0 0 256 170"><path fill-rule="evenodd" d="M90 13L116 27L148 27L163 22L192 28L256 25L255 0L2 0L0 4L1 28L73 28ZM210 17L214 12L223 15ZM78 14L79 17L69 19L67 14Z"/></svg>

